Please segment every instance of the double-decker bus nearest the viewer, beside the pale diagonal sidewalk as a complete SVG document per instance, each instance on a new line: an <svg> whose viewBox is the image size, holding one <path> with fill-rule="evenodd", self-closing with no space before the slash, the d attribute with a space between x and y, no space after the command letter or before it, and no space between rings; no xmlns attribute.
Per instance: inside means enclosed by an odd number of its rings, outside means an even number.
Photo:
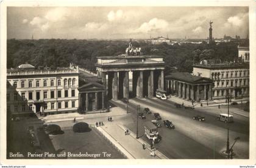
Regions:
<svg viewBox="0 0 256 168"><path fill-rule="evenodd" d="M147 121L144 126L145 129L145 135L147 138L151 141L158 142L161 140L161 136L158 135L157 127L152 124L151 122Z"/></svg>

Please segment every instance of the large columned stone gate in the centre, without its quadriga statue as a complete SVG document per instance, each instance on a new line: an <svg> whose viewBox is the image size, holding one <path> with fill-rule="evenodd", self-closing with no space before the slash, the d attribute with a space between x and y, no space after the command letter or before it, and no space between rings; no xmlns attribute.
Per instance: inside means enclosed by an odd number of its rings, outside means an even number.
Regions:
<svg viewBox="0 0 256 168"><path fill-rule="evenodd" d="M129 95L154 96L156 89L164 89L163 56L119 55L99 56L97 59L98 78L105 84L109 99L129 98ZM129 78L132 79L130 90Z"/></svg>

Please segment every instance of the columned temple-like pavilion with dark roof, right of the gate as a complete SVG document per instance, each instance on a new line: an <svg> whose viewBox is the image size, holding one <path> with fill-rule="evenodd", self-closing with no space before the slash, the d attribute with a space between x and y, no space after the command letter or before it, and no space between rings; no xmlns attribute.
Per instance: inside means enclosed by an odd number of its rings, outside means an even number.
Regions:
<svg viewBox="0 0 256 168"><path fill-rule="evenodd" d="M166 92L189 101L212 100L213 80L188 72L170 73L165 77Z"/></svg>

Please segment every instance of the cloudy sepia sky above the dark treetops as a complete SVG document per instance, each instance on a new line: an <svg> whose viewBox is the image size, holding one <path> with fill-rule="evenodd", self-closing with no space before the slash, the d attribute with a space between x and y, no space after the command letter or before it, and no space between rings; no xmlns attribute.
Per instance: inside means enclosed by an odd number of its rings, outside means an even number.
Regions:
<svg viewBox="0 0 256 168"><path fill-rule="evenodd" d="M246 38L247 7L8 7L7 38Z"/></svg>

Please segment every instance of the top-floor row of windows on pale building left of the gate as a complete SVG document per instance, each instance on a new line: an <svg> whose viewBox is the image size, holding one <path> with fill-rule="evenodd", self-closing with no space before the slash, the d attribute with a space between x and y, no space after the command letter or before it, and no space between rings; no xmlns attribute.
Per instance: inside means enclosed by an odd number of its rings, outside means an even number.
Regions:
<svg viewBox="0 0 256 168"><path fill-rule="evenodd" d="M67 86L67 84L68 84L68 86L76 86L76 79L73 78L72 83L71 83L70 78L69 79L64 79L64 86ZM57 85L61 86L61 80L60 79L58 79ZM47 81L46 80L43 81L43 86L44 87L47 86ZM51 80L50 86L54 86L54 80ZM10 83L7 81L7 88L9 88L9 87L10 87ZM13 82L13 87L17 87L17 82L16 81ZM21 81L21 87L25 87L25 81ZM29 87L33 87L32 81L29 81ZM40 87L40 81L36 81L36 87Z"/></svg>

